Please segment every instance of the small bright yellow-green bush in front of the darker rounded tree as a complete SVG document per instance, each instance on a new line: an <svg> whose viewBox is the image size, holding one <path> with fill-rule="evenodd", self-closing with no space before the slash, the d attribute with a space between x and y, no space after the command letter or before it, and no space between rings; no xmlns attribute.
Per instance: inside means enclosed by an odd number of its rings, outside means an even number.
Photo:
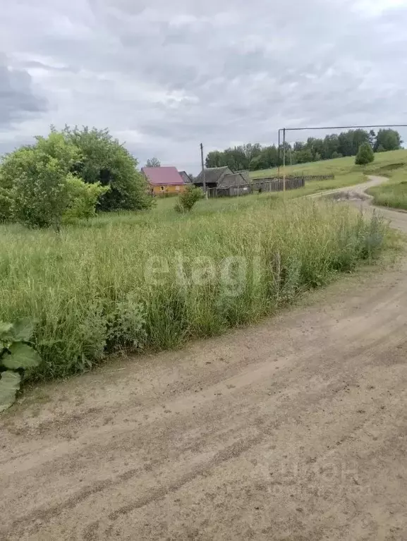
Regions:
<svg viewBox="0 0 407 541"><path fill-rule="evenodd" d="M109 186L102 186L99 182L87 184L77 176L69 176L68 185L68 208L64 217L90 219L96 214L96 205L99 197L107 193Z"/></svg>

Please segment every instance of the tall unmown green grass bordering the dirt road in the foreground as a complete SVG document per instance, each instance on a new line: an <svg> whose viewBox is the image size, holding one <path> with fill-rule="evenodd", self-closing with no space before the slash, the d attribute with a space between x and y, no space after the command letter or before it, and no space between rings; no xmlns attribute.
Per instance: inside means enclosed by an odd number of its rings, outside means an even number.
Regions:
<svg viewBox="0 0 407 541"><path fill-rule="evenodd" d="M61 233L0 226L0 321L35 320L30 379L88 370L120 350L180 346L259 320L377 256L387 226L348 206L260 195L174 200Z"/></svg>

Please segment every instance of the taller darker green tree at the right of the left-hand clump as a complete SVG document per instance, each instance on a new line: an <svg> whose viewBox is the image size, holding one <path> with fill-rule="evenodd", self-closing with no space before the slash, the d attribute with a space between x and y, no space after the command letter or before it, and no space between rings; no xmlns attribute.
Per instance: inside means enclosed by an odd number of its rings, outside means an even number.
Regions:
<svg viewBox="0 0 407 541"><path fill-rule="evenodd" d="M63 134L80 151L80 160L71 170L73 174L86 183L99 182L110 187L99 200L99 210L151 207L152 197L148 195L145 177L137 169L137 160L110 135L109 130L66 126Z"/></svg>

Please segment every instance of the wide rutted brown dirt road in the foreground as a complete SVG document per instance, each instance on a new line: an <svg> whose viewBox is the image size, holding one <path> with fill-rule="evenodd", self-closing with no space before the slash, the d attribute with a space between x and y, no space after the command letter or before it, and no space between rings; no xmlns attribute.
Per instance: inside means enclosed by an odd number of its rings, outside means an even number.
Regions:
<svg viewBox="0 0 407 541"><path fill-rule="evenodd" d="M0 539L406 540L406 270L33 391L0 418Z"/></svg>

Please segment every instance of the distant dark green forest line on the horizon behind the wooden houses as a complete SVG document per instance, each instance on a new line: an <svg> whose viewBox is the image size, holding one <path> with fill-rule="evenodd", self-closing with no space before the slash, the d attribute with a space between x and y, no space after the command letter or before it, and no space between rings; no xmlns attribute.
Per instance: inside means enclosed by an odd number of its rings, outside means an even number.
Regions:
<svg viewBox="0 0 407 541"><path fill-rule="evenodd" d="M365 130L349 130L342 133L327 135L324 139L310 137L306 142L295 142L293 145L286 142L286 164L305 164L319 162L321 159L356 156L360 145L368 142L375 152L399 150L401 140L399 132L386 129L367 132ZM260 143L248 143L226 150L214 150L207 154L205 165L207 167L229 166L232 171L250 169L269 169L282 164L283 146L279 150L276 145L262 147Z"/></svg>

